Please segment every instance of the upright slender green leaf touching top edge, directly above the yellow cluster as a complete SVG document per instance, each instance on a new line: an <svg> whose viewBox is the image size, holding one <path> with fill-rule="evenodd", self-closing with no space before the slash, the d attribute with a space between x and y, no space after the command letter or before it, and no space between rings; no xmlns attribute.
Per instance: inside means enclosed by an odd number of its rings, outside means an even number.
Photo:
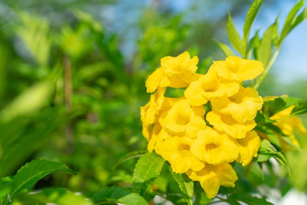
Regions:
<svg viewBox="0 0 307 205"><path fill-rule="evenodd" d="M248 39L248 35L251 30L252 24L256 18L256 15L258 13L258 10L262 2L263 0L255 0L247 12L245 23L243 26L243 40L245 41L247 41Z"/></svg>

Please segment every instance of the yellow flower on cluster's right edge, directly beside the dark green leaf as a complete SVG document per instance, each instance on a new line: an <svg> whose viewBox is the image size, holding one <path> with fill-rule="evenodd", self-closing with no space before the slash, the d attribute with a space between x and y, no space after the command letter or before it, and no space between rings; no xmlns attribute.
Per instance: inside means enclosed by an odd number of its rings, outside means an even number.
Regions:
<svg viewBox="0 0 307 205"><path fill-rule="evenodd" d="M239 122L254 119L262 104L262 97L258 95L256 89L242 86L236 94L230 97L223 96L211 100L212 110L229 114Z"/></svg>

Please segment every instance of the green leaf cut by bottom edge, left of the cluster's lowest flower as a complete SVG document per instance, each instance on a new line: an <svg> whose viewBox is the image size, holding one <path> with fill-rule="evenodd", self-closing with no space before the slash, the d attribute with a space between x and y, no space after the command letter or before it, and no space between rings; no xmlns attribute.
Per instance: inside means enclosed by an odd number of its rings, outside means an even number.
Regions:
<svg viewBox="0 0 307 205"><path fill-rule="evenodd" d="M93 196L92 200L97 204L109 201L125 205L148 205L148 202L138 194L116 186L103 188Z"/></svg>

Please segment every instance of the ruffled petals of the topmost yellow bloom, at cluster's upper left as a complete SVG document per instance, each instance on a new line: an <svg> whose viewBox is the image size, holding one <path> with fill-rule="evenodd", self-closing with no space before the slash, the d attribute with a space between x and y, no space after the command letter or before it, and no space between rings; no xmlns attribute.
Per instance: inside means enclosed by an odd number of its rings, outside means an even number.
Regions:
<svg viewBox="0 0 307 205"><path fill-rule="evenodd" d="M167 77L174 77L182 73L195 73L197 70L198 57L194 56L192 59L188 52L183 52L177 57L164 57L160 61L161 67Z"/></svg>

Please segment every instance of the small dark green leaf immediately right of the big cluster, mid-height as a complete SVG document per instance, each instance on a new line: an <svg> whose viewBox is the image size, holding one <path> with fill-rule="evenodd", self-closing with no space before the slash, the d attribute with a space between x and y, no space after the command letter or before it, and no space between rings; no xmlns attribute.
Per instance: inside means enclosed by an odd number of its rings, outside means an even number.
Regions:
<svg viewBox="0 0 307 205"><path fill-rule="evenodd" d="M281 98L275 98L274 100L267 100L263 102L262 111L263 114L271 117L274 114L284 110L287 103Z"/></svg>

